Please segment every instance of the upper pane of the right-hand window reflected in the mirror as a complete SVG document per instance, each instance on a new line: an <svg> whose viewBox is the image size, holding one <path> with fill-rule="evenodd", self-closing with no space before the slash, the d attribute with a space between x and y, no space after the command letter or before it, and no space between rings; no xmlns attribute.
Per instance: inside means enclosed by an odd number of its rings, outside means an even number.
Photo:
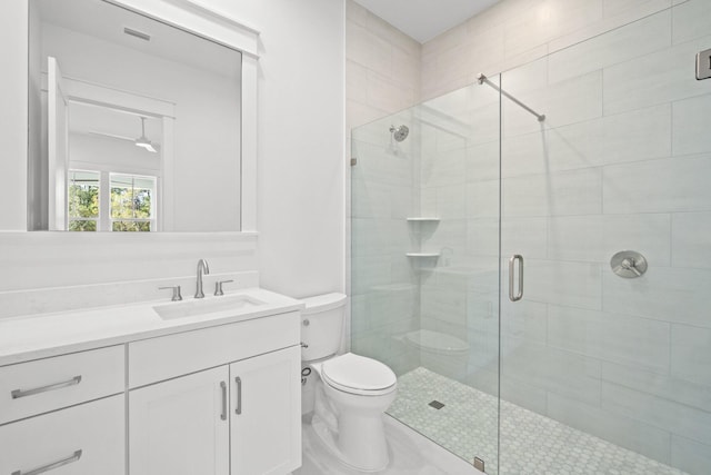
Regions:
<svg viewBox="0 0 711 475"><path fill-rule="evenodd" d="M112 174L111 218L152 218L154 215L154 196L156 177Z"/></svg>

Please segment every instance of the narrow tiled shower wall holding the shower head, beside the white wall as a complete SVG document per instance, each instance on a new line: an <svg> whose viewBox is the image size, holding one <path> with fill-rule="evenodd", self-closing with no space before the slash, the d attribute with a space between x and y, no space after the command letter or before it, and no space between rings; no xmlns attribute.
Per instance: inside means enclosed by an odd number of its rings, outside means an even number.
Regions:
<svg viewBox="0 0 711 475"><path fill-rule="evenodd" d="M418 201L418 154L412 140L392 142L390 119L358 137L351 138L351 129L419 100L421 46L352 0L347 1L346 17L346 156L359 164L346 180L347 236L353 243L347 250L347 285L357 317L350 319L344 342L348 346L352 340L356 352L379 357L400 373L419 359L405 356L401 338L418 326L417 275L404 256L411 247L405 218ZM407 112L401 121L412 123ZM351 281L352 273L359 277Z"/></svg>

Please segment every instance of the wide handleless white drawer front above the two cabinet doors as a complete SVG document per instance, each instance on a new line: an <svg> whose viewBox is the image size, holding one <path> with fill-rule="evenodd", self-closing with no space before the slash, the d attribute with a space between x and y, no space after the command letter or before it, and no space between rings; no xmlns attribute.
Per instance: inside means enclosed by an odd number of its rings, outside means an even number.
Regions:
<svg viewBox="0 0 711 475"><path fill-rule="evenodd" d="M129 386L144 386L298 345L299 311L129 344Z"/></svg>

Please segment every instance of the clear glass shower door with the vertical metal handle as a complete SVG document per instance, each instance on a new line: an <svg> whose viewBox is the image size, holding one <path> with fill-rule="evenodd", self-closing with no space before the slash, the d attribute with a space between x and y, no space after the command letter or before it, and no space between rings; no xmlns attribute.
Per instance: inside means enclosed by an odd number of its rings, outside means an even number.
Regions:
<svg viewBox="0 0 711 475"><path fill-rule="evenodd" d="M702 3L502 75L547 119L502 100L501 473L711 473ZM635 38L660 34L639 51ZM615 274L622 250L641 253L647 273Z"/></svg>

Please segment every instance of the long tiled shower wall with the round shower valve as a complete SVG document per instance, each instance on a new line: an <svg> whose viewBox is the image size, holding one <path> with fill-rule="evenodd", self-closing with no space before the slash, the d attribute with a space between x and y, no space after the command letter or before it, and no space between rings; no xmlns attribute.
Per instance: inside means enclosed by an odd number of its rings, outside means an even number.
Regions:
<svg viewBox="0 0 711 475"><path fill-rule="evenodd" d="M502 257L524 256L525 296L503 300L501 396L709 473L711 81L697 81L693 63L711 48L711 3L498 3L424 44L422 56L424 97L512 68L502 87L548 117L541 128L504 99ZM625 26L589 38L618 24ZM472 137L488 133L478 127ZM468 263L498 256L498 140L434 151L434 171L451 180L423 179L422 206L450 212L433 241L457 226L465 234L465 244L453 240L463 253L454 247L449 260L464 263L457 285L469 294L423 283L423 325L460 318L470 338L487 331L471 305L481 273ZM644 277L611 273L610 257L624 249L649 259ZM494 375L481 369L470 368L470 383L494 390ZM502 464L512 449L502 438Z"/></svg>

